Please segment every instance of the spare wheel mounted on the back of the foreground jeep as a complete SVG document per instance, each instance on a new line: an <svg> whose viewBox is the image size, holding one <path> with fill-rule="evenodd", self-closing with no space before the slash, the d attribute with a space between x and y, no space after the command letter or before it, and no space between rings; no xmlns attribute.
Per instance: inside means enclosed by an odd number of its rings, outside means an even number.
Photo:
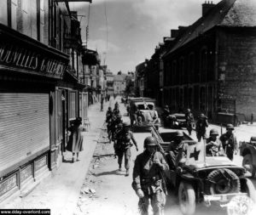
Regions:
<svg viewBox="0 0 256 215"><path fill-rule="evenodd" d="M206 193L209 195L240 192L240 179L230 169L215 169L207 176Z"/></svg>

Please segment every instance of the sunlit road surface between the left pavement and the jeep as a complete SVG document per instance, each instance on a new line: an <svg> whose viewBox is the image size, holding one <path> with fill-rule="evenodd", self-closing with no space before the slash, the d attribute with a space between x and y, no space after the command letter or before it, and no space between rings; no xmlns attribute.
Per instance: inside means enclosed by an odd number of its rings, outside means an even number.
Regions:
<svg viewBox="0 0 256 215"><path fill-rule="evenodd" d="M123 121L129 122L129 117L126 116L125 105L120 104L119 109L122 113ZM184 132L186 131L184 130ZM102 135L107 137L106 133L102 133ZM132 169L136 156L143 151L143 140L148 135L150 133L134 133L139 151L137 152L135 147L131 148L131 171L129 177L125 177L124 167L121 172L118 170L117 159L113 156L113 143L102 142L96 145L96 151L90 163L89 172L81 188L75 214L138 214L138 198L131 188ZM195 133L193 136L195 138ZM240 156L236 156L235 160L237 164L241 163ZM253 184L255 185L254 179ZM218 214L226 214L225 208L211 207L209 209L204 206L198 206L196 214L202 215L207 213L213 215L216 212ZM182 214L179 210L177 195L172 190L169 190L165 213Z"/></svg>

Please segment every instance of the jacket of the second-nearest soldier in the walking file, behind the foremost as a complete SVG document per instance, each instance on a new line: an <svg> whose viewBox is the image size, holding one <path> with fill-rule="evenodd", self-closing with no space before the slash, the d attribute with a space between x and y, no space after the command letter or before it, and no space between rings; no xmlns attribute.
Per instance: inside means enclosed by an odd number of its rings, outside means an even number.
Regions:
<svg viewBox="0 0 256 215"><path fill-rule="evenodd" d="M120 149L127 149L132 146L131 141L137 147L137 142L134 139L133 133L131 131L125 131L125 129L121 129L116 133L117 146Z"/></svg>

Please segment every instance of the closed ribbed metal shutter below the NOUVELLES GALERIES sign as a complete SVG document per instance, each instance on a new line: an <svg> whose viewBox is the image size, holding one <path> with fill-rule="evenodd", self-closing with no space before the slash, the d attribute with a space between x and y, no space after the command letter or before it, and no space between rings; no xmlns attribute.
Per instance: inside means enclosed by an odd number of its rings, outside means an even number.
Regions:
<svg viewBox="0 0 256 215"><path fill-rule="evenodd" d="M0 171L49 147L49 94L0 93Z"/></svg>

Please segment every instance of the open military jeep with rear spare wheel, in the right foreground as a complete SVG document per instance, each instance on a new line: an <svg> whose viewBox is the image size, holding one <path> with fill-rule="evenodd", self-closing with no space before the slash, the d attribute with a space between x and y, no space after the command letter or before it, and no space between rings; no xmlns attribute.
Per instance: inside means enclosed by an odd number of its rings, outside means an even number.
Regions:
<svg viewBox="0 0 256 215"><path fill-rule="evenodd" d="M184 135L185 158L170 163L170 148L176 132L152 135L166 156L170 170L166 173L168 187L177 191L180 210L184 215L195 214L196 205L223 207L237 195L247 195L256 202L255 189L250 179L245 178L244 167L237 166L225 156L205 156L205 146Z"/></svg>

